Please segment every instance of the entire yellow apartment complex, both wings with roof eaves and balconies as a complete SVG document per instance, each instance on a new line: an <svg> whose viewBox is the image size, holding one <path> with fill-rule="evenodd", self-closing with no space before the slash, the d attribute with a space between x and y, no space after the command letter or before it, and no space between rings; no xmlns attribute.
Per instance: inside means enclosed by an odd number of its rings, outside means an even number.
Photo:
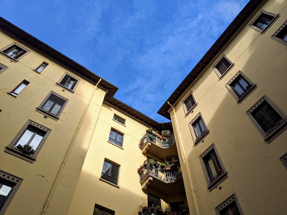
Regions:
<svg viewBox="0 0 287 215"><path fill-rule="evenodd" d="M287 214L286 6L251 0L166 123L0 18L0 215Z"/></svg>

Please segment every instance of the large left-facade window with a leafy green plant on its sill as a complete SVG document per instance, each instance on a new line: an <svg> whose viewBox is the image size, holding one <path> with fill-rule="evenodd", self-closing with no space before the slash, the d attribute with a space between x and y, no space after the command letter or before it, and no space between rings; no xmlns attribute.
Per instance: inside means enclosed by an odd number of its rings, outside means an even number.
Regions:
<svg viewBox="0 0 287 215"><path fill-rule="evenodd" d="M33 163L50 132L51 129L28 120L5 152Z"/></svg>

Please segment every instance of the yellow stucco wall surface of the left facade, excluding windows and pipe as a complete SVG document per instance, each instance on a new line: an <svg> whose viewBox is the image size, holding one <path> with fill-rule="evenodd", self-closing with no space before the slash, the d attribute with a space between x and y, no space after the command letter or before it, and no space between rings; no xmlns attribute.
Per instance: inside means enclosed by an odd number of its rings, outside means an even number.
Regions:
<svg viewBox="0 0 287 215"><path fill-rule="evenodd" d="M0 37L0 47L5 47L15 41L3 33ZM17 43L30 50L19 62L10 61L7 57L0 55L0 63L9 67L0 74L2 110L0 114L0 136L2 137L0 169L24 180L5 214L41 214L94 86L83 77L40 56L30 47ZM33 71L44 61L49 65L40 74ZM80 79L75 93L70 93L56 85L65 72ZM17 98L7 94L24 79L30 83ZM69 99L57 121L51 118L45 119L44 114L35 111L50 91ZM94 99L54 191L49 205L51 214L67 213L73 187L77 182L88 149L89 136L92 135L105 93L99 88L95 91ZM33 164L4 152L5 147L10 144L28 119L52 130Z"/></svg>

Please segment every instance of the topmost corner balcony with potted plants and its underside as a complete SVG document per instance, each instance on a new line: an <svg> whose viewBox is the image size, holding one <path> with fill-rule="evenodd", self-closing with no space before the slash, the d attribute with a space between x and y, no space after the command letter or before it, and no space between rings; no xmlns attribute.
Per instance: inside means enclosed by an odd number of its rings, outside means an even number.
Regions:
<svg viewBox="0 0 287 215"><path fill-rule="evenodd" d="M168 137L160 138L154 136L151 132L146 132L140 140L139 147L143 154L149 152L153 155L159 155L158 157L162 160L164 160L165 157L178 156L173 133Z"/></svg>

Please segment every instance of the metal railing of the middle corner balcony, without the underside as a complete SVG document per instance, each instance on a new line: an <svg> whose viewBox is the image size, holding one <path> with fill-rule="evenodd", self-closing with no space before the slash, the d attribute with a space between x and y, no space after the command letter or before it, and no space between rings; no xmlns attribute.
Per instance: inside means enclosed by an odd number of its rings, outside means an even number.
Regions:
<svg viewBox="0 0 287 215"><path fill-rule="evenodd" d="M139 182L143 181L148 176L152 176L165 183L170 183L177 181L181 175L181 168L179 167L176 169L163 171L160 169L160 167L155 167L148 164L141 171L139 171Z"/></svg>

